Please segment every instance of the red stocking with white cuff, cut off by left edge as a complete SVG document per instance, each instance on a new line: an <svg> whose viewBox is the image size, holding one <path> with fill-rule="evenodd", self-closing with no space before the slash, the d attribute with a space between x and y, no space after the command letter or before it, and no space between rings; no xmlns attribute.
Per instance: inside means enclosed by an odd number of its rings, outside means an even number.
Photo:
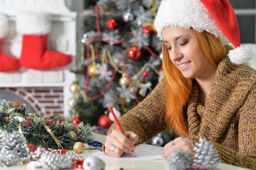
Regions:
<svg viewBox="0 0 256 170"><path fill-rule="evenodd" d="M2 38L7 34L8 21L7 18L0 14L0 46ZM6 55L0 48L0 72L14 72L20 68L20 62L16 57Z"/></svg>

